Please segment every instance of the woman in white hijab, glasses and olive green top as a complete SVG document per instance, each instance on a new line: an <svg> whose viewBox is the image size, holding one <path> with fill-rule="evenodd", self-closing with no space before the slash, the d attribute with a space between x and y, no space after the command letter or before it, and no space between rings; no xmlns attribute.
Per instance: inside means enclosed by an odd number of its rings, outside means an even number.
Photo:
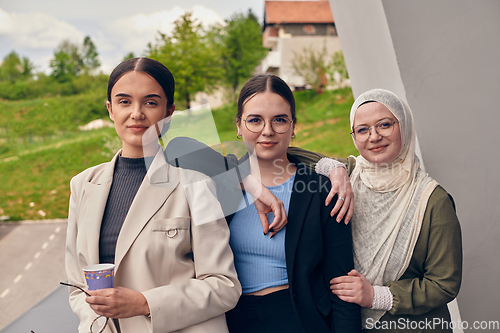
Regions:
<svg viewBox="0 0 500 333"><path fill-rule="evenodd" d="M370 90L354 102L351 127L361 154L351 174L356 270L333 279L332 292L363 306L365 329L452 332L460 225L451 196L420 168L411 110L390 91Z"/></svg>

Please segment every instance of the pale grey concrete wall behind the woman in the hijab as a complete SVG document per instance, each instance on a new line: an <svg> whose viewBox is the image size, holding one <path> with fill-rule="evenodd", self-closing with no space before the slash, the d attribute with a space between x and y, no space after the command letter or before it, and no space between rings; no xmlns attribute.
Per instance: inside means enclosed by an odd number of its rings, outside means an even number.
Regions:
<svg viewBox="0 0 500 333"><path fill-rule="evenodd" d="M462 226L458 305L500 321L500 1L330 0L355 96L385 88L412 108L427 172ZM493 332L498 330L474 330Z"/></svg>

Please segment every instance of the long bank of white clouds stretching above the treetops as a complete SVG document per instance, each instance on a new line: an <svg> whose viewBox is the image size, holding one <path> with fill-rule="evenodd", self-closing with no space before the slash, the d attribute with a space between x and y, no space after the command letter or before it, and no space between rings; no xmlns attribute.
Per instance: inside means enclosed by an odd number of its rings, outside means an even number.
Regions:
<svg viewBox="0 0 500 333"><path fill-rule="evenodd" d="M224 20L214 10L196 5L189 10L176 6L149 14L137 14L108 21L88 17L87 26L69 24L63 19L44 13L14 13L0 8L0 61L10 51L28 56L44 72L49 71L49 60L63 39L81 44L90 35L101 59L101 70L111 70L129 52L144 55L148 43L155 43L158 32L172 33L174 22L186 11L193 19L208 27ZM82 22L82 21L81 21Z"/></svg>

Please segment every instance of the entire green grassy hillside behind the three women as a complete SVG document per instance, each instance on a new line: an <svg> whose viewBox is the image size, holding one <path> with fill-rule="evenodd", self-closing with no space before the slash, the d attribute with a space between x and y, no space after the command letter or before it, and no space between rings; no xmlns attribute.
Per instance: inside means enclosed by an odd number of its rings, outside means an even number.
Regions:
<svg viewBox="0 0 500 333"><path fill-rule="evenodd" d="M294 146L328 156L356 154L349 135L349 88L295 93ZM24 101L0 101L0 215L10 220L66 218L69 182L88 167L107 162L120 148L114 129L79 132L78 126L105 118L105 96L88 93ZM176 135L236 141L236 105L204 114L197 125L179 120ZM182 118L182 117L180 117ZM180 119L179 118L179 119ZM213 133L217 129L218 138ZM174 134L174 130L169 135Z"/></svg>

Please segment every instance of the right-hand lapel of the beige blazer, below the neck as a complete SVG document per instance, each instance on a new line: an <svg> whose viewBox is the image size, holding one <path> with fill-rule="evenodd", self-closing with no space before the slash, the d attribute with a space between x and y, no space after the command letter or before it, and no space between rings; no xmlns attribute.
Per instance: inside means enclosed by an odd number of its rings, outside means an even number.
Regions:
<svg viewBox="0 0 500 333"><path fill-rule="evenodd" d="M179 184L177 169L165 163L163 155L161 155L163 162L157 163L159 157L157 154L153 164L148 168L148 173L123 222L116 242L115 274L137 236Z"/></svg>

